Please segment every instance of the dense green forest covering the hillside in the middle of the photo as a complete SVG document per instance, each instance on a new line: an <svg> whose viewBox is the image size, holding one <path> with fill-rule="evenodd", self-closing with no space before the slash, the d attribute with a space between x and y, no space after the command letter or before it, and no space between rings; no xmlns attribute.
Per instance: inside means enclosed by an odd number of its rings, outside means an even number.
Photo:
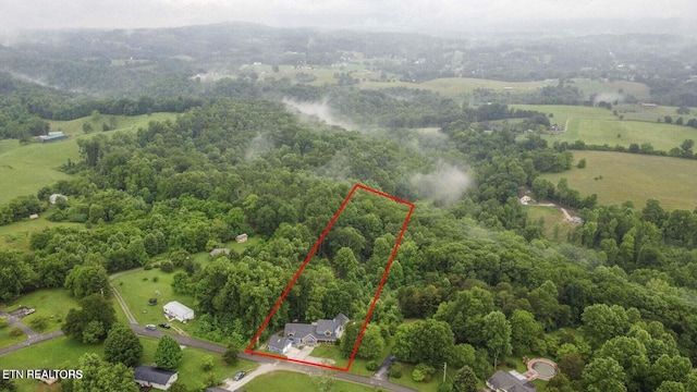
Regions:
<svg viewBox="0 0 697 392"><path fill-rule="evenodd" d="M685 228L696 228L697 212L667 212L652 200L637 213L588 200L586 223L567 243L550 242L517 192L535 186L540 171L567 167L570 152L516 140L510 130L480 132L457 120L447 128L438 137L448 143L429 145L407 131L402 138L392 137L399 130L347 132L301 122L281 103L216 98L174 122L80 140L72 180L2 208L9 220L45 210L86 230L47 229L32 235L30 254L2 250L0 294L80 286L90 273L157 261L181 268L175 290L196 296L200 336L245 344L359 182L417 206L371 320L404 360L448 359L484 379L506 355L535 353L560 360L563 376L548 390L692 385L697 375L683 364L697 359L697 230ZM449 180L438 180L444 168L457 167L474 172L477 186L455 201L414 180L438 184ZM536 188L573 194L543 185ZM49 206L51 193L69 199ZM348 207L271 330L291 318L365 315L404 211L365 197ZM244 231L265 241L205 265L186 257ZM503 336L499 324L508 326ZM451 343L432 351L419 341L424 330Z"/></svg>

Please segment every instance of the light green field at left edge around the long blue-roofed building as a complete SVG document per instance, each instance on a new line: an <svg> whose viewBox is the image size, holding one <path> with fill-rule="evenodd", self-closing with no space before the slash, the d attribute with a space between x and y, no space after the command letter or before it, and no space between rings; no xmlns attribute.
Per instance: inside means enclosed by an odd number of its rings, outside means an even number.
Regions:
<svg viewBox="0 0 697 392"><path fill-rule="evenodd" d="M150 121L163 121L174 119L175 113L154 113L151 115L115 117L118 128L112 132L135 131L146 127ZM58 170L69 159L80 160L77 138L91 137L100 134L102 122L109 122L109 117L101 115L100 120L91 117L72 121L51 121L51 131L63 131L72 137L66 140L53 143L29 143L21 145L15 139L0 140L0 184L3 192L0 193L0 204L8 203L14 197L36 194L42 186L50 185L59 180L64 180L68 174ZM96 130L91 134L83 133L83 123L89 122Z"/></svg>

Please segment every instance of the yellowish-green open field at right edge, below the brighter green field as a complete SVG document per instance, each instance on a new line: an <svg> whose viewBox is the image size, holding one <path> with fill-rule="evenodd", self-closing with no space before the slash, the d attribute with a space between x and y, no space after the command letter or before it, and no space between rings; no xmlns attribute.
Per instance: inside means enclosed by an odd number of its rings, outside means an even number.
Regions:
<svg viewBox="0 0 697 392"><path fill-rule="evenodd" d="M582 196L598 194L600 204L632 200L644 208L657 198L669 210L697 207L697 160L656 157L627 152L574 151L574 160L586 159L585 169L542 176L553 184L561 177ZM602 175L601 180L594 180Z"/></svg>

